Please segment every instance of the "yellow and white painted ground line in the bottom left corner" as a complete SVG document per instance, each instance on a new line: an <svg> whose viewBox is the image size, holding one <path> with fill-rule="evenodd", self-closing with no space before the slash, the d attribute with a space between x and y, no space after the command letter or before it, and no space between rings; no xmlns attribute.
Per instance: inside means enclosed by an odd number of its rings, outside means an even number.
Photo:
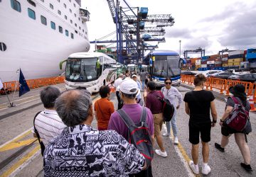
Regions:
<svg viewBox="0 0 256 177"><path fill-rule="evenodd" d="M35 147L34 149L31 150L31 152L28 152L28 154L26 154L25 156L23 156L19 161L16 162L16 164L14 164L13 166L11 166L10 169L6 170L1 176L6 177L6 176L11 176L12 173L14 173L14 171L16 171L18 173L18 167L25 167L29 164L29 162L32 161L31 158L35 158L37 152L39 152L41 149L40 145L38 145L37 147ZM28 161L26 164L24 164L26 161Z"/></svg>

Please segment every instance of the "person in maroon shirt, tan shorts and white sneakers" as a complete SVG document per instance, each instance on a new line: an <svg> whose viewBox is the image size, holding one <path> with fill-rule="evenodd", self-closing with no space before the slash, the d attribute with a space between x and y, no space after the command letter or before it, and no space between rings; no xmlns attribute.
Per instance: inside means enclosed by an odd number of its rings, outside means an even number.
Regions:
<svg viewBox="0 0 256 177"><path fill-rule="evenodd" d="M155 152L159 156L166 157L167 152L164 150L163 137L161 136L161 128L164 122L163 118L163 103L159 98L164 98L161 91L156 91L156 84L154 81L149 81L147 84L146 95L146 108L151 110L154 117L154 137L160 149L156 149Z"/></svg>

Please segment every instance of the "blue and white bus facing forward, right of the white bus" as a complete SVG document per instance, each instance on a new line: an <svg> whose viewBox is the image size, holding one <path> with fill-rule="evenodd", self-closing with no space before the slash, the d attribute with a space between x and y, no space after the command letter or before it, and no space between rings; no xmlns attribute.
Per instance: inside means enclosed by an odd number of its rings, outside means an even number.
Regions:
<svg viewBox="0 0 256 177"><path fill-rule="evenodd" d="M156 81L157 88L164 86L164 79L166 77L171 78L173 86L180 86L183 59L180 58L177 52L154 50L146 55L144 62L149 65L149 74L151 79Z"/></svg>

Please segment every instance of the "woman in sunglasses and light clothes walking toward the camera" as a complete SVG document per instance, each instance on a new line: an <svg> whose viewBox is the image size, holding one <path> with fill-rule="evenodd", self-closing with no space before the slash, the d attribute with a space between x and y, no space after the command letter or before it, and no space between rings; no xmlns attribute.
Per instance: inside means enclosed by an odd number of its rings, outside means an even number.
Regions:
<svg viewBox="0 0 256 177"><path fill-rule="evenodd" d="M165 86L161 88L161 92L164 95L164 98L168 99L172 105L174 105L174 115L171 118L171 121L166 122L167 133L164 133L164 137L168 137L171 135L171 127L174 133L174 144L178 144L178 130L176 124L176 112L180 107L182 102L182 95L174 86L171 86L171 79L166 78L164 80ZM176 103L176 99L178 99L178 104Z"/></svg>

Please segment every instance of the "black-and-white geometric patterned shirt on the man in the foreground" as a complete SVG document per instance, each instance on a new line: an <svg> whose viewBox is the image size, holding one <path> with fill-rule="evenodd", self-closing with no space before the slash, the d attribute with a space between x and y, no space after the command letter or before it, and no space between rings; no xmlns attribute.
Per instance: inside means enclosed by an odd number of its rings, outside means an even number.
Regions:
<svg viewBox="0 0 256 177"><path fill-rule="evenodd" d="M44 152L45 176L128 176L139 173L144 156L114 130L65 127Z"/></svg>

